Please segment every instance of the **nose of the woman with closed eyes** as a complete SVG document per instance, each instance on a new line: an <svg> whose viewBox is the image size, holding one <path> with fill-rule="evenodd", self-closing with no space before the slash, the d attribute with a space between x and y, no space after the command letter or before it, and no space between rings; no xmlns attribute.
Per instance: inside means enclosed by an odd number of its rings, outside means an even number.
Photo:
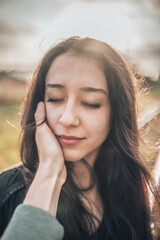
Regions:
<svg viewBox="0 0 160 240"><path fill-rule="evenodd" d="M77 127L80 124L80 119L77 115L76 106L74 103L67 103L63 109L63 113L59 118L59 123L64 127Z"/></svg>

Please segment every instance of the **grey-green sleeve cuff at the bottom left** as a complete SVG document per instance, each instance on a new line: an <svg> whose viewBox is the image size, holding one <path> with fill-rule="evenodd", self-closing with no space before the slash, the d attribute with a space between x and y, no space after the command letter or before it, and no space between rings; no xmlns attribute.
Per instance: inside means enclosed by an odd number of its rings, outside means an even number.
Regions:
<svg viewBox="0 0 160 240"><path fill-rule="evenodd" d="M20 204L1 240L62 240L63 226L49 212Z"/></svg>

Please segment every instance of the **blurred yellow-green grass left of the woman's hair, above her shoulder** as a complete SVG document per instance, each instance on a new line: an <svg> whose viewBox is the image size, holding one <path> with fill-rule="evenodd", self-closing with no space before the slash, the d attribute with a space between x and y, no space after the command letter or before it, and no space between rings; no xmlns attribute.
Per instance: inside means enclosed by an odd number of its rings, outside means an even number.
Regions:
<svg viewBox="0 0 160 240"><path fill-rule="evenodd" d="M20 103L0 104L0 170L19 162Z"/></svg>

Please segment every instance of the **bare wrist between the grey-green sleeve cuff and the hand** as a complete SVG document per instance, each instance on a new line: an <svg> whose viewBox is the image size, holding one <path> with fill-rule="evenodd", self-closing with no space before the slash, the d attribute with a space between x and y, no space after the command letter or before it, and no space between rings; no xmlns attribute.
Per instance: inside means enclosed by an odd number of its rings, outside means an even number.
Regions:
<svg viewBox="0 0 160 240"><path fill-rule="evenodd" d="M42 208L56 216L58 199L64 181L59 171L40 165L25 197L24 204Z"/></svg>

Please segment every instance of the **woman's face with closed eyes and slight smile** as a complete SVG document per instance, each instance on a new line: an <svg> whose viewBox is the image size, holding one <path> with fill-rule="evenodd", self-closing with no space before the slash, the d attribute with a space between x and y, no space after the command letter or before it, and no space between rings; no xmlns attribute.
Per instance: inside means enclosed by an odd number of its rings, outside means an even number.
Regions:
<svg viewBox="0 0 160 240"><path fill-rule="evenodd" d="M104 73L90 59L58 56L46 76L46 117L67 161L93 164L110 128Z"/></svg>

